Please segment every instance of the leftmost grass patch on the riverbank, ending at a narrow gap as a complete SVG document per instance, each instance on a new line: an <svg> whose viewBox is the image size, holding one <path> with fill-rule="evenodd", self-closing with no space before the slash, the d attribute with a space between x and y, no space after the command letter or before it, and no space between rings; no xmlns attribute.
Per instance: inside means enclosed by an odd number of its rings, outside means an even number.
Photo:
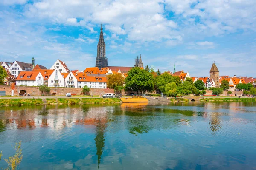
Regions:
<svg viewBox="0 0 256 170"><path fill-rule="evenodd" d="M3 105L40 105L43 104L42 99L0 99L0 106Z"/></svg>

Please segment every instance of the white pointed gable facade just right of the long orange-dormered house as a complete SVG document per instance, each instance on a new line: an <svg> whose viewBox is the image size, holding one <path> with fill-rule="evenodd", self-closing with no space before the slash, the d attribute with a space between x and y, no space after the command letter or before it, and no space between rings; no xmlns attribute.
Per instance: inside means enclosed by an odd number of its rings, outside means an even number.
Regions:
<svg viewBox="0 0 256 170"><path fill-rule="evenodd" d="M49 87L65 87L65 79L58 68L55 68L48 79Z"/></svg>

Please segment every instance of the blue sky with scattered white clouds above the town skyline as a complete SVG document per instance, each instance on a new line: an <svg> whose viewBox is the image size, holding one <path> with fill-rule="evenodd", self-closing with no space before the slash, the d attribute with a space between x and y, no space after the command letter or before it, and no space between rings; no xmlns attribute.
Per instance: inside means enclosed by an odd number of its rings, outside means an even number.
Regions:
<svg viewBox="0 0 256 170"><path fill-rule="evenodd" d="M141 54L160 71L256 77L256 0L0 0L0 61L95 67L100 23L109 66Z"/></svg>

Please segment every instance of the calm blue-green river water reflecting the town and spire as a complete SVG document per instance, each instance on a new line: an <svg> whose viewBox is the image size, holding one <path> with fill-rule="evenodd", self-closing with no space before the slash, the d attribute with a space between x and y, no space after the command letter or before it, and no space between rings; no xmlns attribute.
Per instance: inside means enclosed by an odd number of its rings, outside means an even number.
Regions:
<svg viewBox="0 0 256 170"><path fill-rule="evenodd" d="M0 168L22 141L22 170L256 169L256 102L0 108Z"/></svg>

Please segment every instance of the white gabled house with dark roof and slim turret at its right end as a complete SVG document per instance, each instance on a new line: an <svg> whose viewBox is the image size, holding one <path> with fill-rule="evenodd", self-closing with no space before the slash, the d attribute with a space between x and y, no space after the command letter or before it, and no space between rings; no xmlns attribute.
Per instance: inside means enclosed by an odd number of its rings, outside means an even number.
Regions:
<svg viewBox="0 0 256 170"><path fill-rule="evenodd" d="M25 62L19 62L15 61L12 66L9 68L10 73L17 77L21 71L32 71L33 65L35 63L35 59L32 58L32 63L25 63Z"/></svg>

